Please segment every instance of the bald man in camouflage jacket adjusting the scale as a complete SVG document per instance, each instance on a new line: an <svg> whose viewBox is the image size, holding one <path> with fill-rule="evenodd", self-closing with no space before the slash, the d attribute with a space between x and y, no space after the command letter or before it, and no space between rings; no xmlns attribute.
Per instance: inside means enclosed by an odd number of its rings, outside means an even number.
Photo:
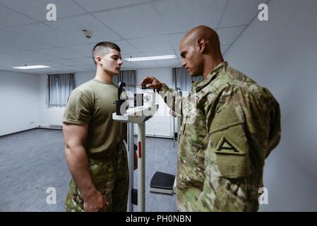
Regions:
<svg viewBox="0 0 317 226"><path fill-rule="evenodd" d="M181 66L193 83L189 97L155 77L158 89L182 116L177 162L179 211L257 211L265 158L280 141L280 107L266 88L224 61L215 30L198 26L181 40Z"/></svg>

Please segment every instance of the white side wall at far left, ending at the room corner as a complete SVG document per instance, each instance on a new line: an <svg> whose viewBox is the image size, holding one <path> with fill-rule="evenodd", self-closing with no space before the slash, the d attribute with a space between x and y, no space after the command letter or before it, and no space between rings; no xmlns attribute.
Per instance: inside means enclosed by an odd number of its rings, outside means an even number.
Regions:
<svg viewBox="0 0 317 226"><path fill-rule="evenodd" d="M38 76L0 71L0 136L39 124Z"/></svg>

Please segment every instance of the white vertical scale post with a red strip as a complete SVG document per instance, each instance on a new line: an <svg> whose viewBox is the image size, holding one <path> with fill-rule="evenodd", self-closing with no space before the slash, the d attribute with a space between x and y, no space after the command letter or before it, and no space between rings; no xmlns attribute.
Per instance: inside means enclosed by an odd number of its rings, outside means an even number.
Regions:
<svg viewBox="0 0 317 226"><path fill-rule="evenodd" d="M145 211L145 123L138 124L138 210Z"/></svg>

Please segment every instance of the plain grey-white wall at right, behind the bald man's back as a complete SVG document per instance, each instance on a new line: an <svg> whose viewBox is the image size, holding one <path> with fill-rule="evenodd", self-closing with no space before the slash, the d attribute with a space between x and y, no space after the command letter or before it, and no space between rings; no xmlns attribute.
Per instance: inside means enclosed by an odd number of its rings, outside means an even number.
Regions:
<svg viewBox="0 0 317 226"><path fill-rule="evenodd" d="M266 161L269 204L261 210L317 210L317 1L272 0L225 54L266 86L282 110L282 140Z"/></svg>

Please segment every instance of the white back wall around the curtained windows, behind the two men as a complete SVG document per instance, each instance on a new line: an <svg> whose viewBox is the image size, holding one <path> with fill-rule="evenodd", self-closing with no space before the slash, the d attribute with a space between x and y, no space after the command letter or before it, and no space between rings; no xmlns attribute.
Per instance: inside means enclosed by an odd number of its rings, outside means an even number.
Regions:
<svg viewBox="0 0 317 226"><path fill-rule="evenodd" d="M138 69L136 71L136 81L140 81L144 76L155 76L167 85L172 85L172 69L171 68L156 68L156 69ZM81 85L95 77L95 71L79 72L75 74L75 85ZM65 107L47 107L46 88L47 75L40 75L40 126L61 125ZM167 105L162 101L162 98L157 98L160 103L159 111L169 112ZM145 126L145 133L150 136L172 136L173 134L173 119L171 116L157 116L150 119ZM137 127L135 126L137 132Z"/></svg>

